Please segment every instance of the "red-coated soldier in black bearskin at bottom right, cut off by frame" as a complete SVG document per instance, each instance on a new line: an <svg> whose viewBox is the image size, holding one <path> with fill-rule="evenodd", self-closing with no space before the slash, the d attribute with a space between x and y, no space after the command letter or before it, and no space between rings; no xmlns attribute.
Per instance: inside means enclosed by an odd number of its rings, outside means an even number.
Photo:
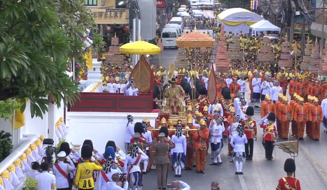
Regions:
<svg viewBox="0 0 327 190"><path fill-rule="evenodd" d="M287 177L279 179L276 190L301 190L300 180L293 177L295 169L295 161L292 158L287 158L284 163Z"/></svg>

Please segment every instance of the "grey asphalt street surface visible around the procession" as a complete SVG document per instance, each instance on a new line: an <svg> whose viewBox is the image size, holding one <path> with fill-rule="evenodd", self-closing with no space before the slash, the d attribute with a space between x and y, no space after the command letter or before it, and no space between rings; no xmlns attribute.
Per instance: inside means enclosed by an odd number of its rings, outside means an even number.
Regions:
<svg viewBox="0 0 327 190"><path fill-rule="evenodd" d="M185 32L185 31L184 31ZM177 49L164 49L161 53L161 65L168 69L170 62L176 60ZM159 56L152 58L151 64L159 64ZM218 71L219 72L219 71ZM248 83L247 83L248 85ZM246 99L250 100L250 91L247 87ZM253 106L252 103L250 103ZM260 109L255 108L254 119L260 121ZM259 126L258 126L259 127ZM295 157L296 178L301 182L302 190L326 190L327 189L327 134L323 132L321 125L321 138L314 142L308 138L299 142L299 153ZM244 175L235 175L233 163L229 163L231 156L227 155L227 142L221 151L222 165L210 166L211 153L207 156L205 174L196 174L193 171L183 171L181 178L174 177L174 171L168 172L168 184L175 180L181 180L191 186L191 190L208 190L213 181L218 181L221 190L275 190L278 180L285 177L284 161L291 156L279 148L275 148L273 160L265 159L265 150L262 145L263 130L258 129L258 141L254 143L253 161L245 161L243 165ZM295 140L290 137L290 140ZM278 140L280 142L282 140ZM209 151L210 152L210 151ZM169 167L170 168L170 167ZM143 190L157 190L157 173L152 170L143 176Z"/></svg>

